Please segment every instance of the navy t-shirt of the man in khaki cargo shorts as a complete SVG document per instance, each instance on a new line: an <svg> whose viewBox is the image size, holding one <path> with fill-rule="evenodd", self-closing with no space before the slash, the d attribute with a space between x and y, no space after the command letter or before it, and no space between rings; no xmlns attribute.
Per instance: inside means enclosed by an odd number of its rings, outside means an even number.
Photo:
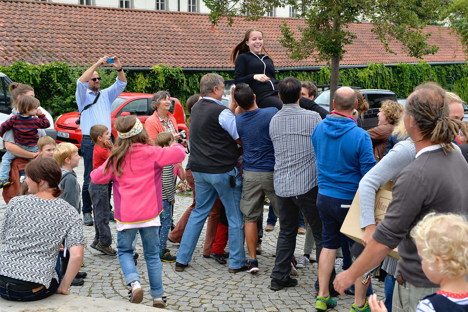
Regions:
<svg viewBox="0 0 468 312"><path fill-rule="evenodd" d="M237 133L244 150L244 170L268 172L275 167L275 150L270 138L270 121L278 109L268 107L235 116Z"/></svg>

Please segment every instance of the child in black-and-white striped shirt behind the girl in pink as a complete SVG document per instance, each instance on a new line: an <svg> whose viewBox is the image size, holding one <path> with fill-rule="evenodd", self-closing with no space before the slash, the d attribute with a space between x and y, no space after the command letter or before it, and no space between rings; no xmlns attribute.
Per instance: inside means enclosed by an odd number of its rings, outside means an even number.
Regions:
<svg viewBox="0 0 468 312"><path fill-rule="evenodd" d="M174 135L168 131L160 132L155 140L155 145L166 147L171 146L175 143ZM178 166L183 172L182 166ZM174 165L167 165L162 168L162 206L163 210L159 215L161 221L161 226L159 228L159 257L163 262L174 262L176 261L176 256L170 254L169 249L167 248L167 241L169 230L171 229L172 223L172 206L176 202L176 185L174 183L174 174L177 172L174 169ZM183 172L185 175L185 172Z"/></svg>

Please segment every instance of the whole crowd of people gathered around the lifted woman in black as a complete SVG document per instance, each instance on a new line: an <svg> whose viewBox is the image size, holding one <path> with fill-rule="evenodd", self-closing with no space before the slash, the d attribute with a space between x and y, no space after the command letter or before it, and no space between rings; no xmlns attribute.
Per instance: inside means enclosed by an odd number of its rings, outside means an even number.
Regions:
<svg viewBox="0 0 468 312"><path fill-rule="evenodd" d="M73 171L78 148L55 146L44 136L48 122L32 87L10 87L14 109L0 125L9 151L0 187L11 189L4 191L8 206L0 232L1 297L38 300L84 283L81 212L83 224L95 226L90 247L118 255L132 303L144 296L136 268L138 236L153 306L163 308L161 261L175 262L178 272L190 269L207 219L203 256L221 264L228 259L230 273L255 274L266 269L257 258L266 196L270 222L280 220L271 290L297 285L291 277L297 268L317 261L317 311L335 307L338 294L354 295L351 312L468 311L468 192L461 183L468 175L468 133L456 94L424 83L405 107L382 102L378 125L366 131L362 120L369 104L359 91L340 87L333 110L326 111L313 101L317 88L310 81L276 79L263 33L251 28L231 53L235 86L229 107L221 102L224 79L215 73L203 76L200 94L188 99L188 142L169 112L169 92L159 91L145 125L135 115L117 118L114 143L110 104L126 79L120 60L113 59L112 86L100 90L96 72L108 64L107 56L76 81L81 188ZM191 186L193 202L173 225L177 177ZM375 194L388 181L394 181L392 201L376 225ZM358 189L362 244L340 232ZM117 250L110 221L117 222ZM267 221L264 230L273 226ZM296 261L298 233L306 234L306 244ZM180 243L176 253L167 240ZM388 255L395 247L399 261ZM335 267L338 250L341 273ZM377 301L365 278L380 266L386 272L385 302Z"/></svg>

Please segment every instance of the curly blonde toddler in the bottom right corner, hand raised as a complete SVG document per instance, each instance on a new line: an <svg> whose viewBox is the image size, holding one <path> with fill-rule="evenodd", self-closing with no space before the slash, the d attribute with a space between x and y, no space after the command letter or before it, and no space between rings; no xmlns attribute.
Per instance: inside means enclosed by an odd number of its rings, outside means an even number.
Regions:
<svg viewBox="0 0 468 312"><path fill-rule="evenodd" d="M429 213L411 230L427 278L440 290L424 297L417 312L468 312L468 222L455 214ZM376 295L372 312L386 312Z"/></svg>

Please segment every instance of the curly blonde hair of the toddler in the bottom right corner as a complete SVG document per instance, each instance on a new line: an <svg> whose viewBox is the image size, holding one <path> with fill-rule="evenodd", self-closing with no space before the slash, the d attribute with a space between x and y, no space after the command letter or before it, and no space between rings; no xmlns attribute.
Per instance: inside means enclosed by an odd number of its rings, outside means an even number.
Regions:
<svg viewBox="0 0 468 312"><path fill-rule="evenodd" d="M429 269L449 278L468 274L468 222L460 215L431 212L411 230ZM437 256L442 261L437 260Z"/></svg>

